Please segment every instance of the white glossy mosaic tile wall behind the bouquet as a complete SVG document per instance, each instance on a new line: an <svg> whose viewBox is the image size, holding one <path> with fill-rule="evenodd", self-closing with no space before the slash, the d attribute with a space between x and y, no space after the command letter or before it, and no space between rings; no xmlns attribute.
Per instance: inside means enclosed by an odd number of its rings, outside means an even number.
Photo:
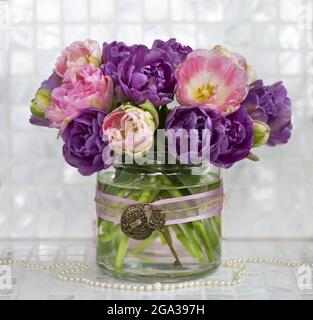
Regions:
<svg viewBox="0 0 313 320"><path fill-rule="evenodd" d="M0 0L0 238L91 236L95 177L61 156L53 130L28 124L29 101L77 39L151 44L177 37L244 54L294 101L288 146L226 173L227 238L313 237L312 1Z"/></svg>

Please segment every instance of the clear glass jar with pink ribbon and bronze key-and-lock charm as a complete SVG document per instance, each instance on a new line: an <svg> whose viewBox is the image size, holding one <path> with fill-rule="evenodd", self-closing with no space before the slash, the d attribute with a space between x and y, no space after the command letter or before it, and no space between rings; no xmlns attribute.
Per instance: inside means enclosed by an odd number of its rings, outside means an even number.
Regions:
<svg viewBox="0 0 313 320"><path fill-rule="evenodd" d="M221 256L220 170L115 165L97 177L97 263L149 281L196 277Z"/></svg>

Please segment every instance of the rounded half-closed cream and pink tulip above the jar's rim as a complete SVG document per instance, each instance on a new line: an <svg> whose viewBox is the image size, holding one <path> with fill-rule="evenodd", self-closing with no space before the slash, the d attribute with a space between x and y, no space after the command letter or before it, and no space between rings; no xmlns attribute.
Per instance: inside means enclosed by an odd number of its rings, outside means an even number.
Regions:
<svg viewBox="0 0 313 320"><path fill-rule="evenodd" d="M102 125L111 149L134 156L143 155L150 149L155 129L152 114L130 104L108 114Z"/></svg>

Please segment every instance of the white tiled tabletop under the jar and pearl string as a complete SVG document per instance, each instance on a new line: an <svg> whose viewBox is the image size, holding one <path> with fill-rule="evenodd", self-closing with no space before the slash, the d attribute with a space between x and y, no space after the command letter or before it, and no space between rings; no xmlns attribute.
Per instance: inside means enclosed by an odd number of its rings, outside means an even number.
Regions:
<svg viewBox="0 0 313 320"><path fill-rule="evenodd" d="M223 260L227 258L280 258L313 262L312 241L224 241ZM104 280L95 264L91 241L0 241L0 257L19 257L32 261L75 260L90 265L89 276ZM1 290L1 299L310 299L313 289L299 289L296 269L251 265L246 280L232 288L191 288L176 291L130 292L98 289L63 283L51 271L25 271L12 268L12 288ZM313 273L313 272L312 272ZM231 270L219 268L211 279L228 279ZM1 281L1 278L0 278ZM312 279L313 282L313 279ZM0 283L1 285L1 283Z"/></svg>

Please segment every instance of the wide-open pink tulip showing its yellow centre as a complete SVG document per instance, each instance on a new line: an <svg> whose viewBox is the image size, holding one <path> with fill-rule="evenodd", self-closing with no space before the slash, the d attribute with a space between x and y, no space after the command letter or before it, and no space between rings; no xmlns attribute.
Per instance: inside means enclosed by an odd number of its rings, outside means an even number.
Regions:
<svg viewBox="0 0 313 320"><path fill-rule="evenodd" d="M177 69L177 101L207 106L227 115L240 107L249 90L249 76L239 56L220 48L195 50Z"/></svg>

